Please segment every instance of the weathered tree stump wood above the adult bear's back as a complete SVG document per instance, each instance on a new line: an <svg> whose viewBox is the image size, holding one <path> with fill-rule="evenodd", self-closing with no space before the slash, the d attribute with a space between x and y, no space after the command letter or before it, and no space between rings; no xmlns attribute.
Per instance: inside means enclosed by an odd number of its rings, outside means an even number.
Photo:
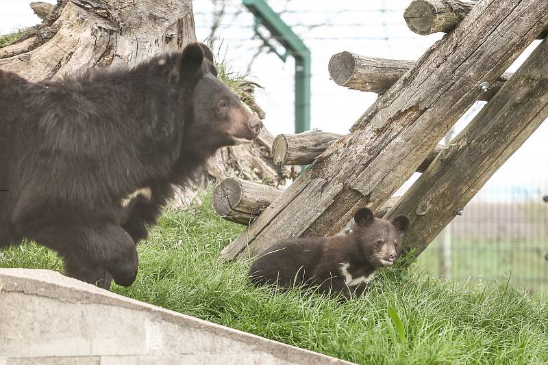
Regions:
<svg viewBox="0 0 548 365"><path fill-rule="evenodd" d="M0 68L39 81L97 66L132 66L196 42L190 0L69 0L62 5L40 27L40 34L50 36L37 37L31 49L18 43L4 47Z"/></svg>

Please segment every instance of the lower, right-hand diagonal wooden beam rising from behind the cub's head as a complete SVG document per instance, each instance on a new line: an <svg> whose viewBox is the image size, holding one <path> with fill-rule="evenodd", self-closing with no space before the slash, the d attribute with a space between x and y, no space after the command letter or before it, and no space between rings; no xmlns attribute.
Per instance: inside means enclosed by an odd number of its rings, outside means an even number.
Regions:
<svg viewBox="0 0 548 365"><path fill-rule="evenodd" d="M388 212L411 219L404 247L420 254L548 117L547 59L545 40ZM429 210L417 215L425 202Z"/></svg>

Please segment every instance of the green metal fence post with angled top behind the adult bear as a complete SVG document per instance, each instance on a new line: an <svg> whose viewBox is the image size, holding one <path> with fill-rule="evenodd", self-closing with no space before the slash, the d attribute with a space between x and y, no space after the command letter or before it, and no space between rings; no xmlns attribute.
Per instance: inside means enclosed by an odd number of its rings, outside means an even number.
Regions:
<svg viewBox="0 0 548 365"><path fill-rule="evenodd" d="M308 131L310 129L310 49L264 0L242 0L242 4L255 16L255 31L265 44L284 62L287 53L295 58L295 133ZM275 46L260 33L258 29L260 25L266 27L272 38L285 47L286 55L281 55Z"/></svg>

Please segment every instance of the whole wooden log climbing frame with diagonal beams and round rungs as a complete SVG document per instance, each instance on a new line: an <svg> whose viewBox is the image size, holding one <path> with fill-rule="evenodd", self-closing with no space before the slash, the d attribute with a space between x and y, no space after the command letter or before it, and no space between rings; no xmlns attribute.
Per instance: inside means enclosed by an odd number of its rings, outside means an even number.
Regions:
<svg viewBox="0 0 548 365"><path fill-rule="evenodd" d="M548 117L548 43L513 75L504 71L548 29L548 1L415 0L412 31L447 34L416 62L342 52L329 61L338 84L379 97L348 135L279 135L272 157L308 169L286 191L229 178L215 211L247 230L221 252L249 258L276 241L337 234L353 213L410 217L404 249L420 254ZM488 103L447 146L438 142L475 103ZM420 178L393 197L413 172Z"/></svg>

